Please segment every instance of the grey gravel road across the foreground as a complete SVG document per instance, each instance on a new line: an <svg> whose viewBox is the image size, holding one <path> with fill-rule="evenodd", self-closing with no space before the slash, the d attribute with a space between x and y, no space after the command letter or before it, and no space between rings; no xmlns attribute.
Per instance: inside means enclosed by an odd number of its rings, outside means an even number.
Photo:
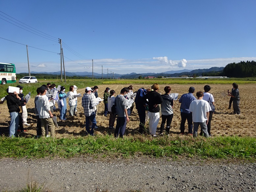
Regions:
<svg viewBox="0 0 256 192"><path fill-rule="evenodd" d="M256 163L182 158L0 159L0 191L256 191Z"/></svg>

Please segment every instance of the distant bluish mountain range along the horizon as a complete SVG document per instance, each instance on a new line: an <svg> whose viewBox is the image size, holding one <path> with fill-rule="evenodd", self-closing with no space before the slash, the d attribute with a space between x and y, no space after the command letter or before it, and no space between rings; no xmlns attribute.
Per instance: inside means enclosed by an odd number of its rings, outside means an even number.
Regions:
<svg viewBox="0 0 256 192"><path fill-rule="evenodd" d="M210 69L195 69L195 70L188 70L188 69L183 69L183 70L177 70L177 71L166 71L163 73L130 73L130 74L114 74L114 78L120 78L120 79L134 79L138 78L141 76L142 78L148 77L148 76L153 76L153 77L158 77L158 76L166 76L166 77L178 77L181 75L188 75L191 76L193 74L197 75L202 75L202 73L205 72L218 72L222 71L224 67L211 67ZM35 72L32 71L30 73L35 73L35 74L52 74L52 75L60 75L61 71L57 72ZM64 75L64 72L62 72ZM65 72L66 76L72 77L72 76L82 76L82 77L89 77L92 78L92 72ZM113 74L104 74L103 73L103 78L113 78ZM102 74L100 73L93 73L94 78L102 78Z"/></svg>

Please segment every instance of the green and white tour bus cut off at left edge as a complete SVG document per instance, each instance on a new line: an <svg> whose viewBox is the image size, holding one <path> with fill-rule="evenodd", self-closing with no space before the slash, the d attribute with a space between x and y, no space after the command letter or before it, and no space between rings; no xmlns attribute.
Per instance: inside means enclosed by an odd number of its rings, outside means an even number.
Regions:
<svg viewBox="0 0 256 192"><path fill-rule="evenodd" d="M0 63L0 84L15 83L16 69L12 63Z"/></svg>

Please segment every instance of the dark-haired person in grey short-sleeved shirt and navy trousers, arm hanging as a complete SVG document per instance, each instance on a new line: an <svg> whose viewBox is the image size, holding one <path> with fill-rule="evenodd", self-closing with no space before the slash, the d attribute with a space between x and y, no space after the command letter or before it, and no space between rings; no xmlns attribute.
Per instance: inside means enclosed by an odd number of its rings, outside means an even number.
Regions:
<svg viewBox="0 0 256 192"><path fill-rule="evenodd" d="M120 95L117 95L114 103L116 104L116 113L117 113L117 119L116 119L116 127L115 127L115 138L119 137L123 138L123 135L125 133L126 128L126 121L129 122L129 117L127 113L127 101L124 98L124 95L126 95L129 92L129 90L124 87L120 91Z"/></svg>

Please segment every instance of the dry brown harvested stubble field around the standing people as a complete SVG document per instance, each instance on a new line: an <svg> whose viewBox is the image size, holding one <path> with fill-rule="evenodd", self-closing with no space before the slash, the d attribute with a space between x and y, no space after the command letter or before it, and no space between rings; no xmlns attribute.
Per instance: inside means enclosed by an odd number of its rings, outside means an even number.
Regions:
<svg viewBox="0 0 256 192"><path fill-rule="evenodd" d="M110 87L114 89L116 94L120 93L120 90L123 87L129 86L127 85L99 85L98 95L99 97L103 97L104 90L106 87ZM150 88L151 85L148 84L134 84L134 91L138 90L141 87ZM160 85L159 93L164 94L164 87L167 85ZM180 85L180 84L170 84L168 85L171 87L172 93L179 93L178 99L181 97L182 94L188 93L188 89L190 86L195 87L195 92L203 91L204 85L196 84L196 85ZM226 84L210 84L211 91L210 93L213 94L215 99L215 107L216 112L213 115L212 119L212 128L211 132L213 136L218 135L227 135L227 136L256 136L255 132L255 109L256 103L254 102L255 98L255 84L243 84L239 85L239 92L240 92L240 108L241 108L241 115L234 115L232 114L233 108L228 109L229 105L229 97L221 96L221 93L227 93L227 90L231 90L232 85ZM67 88L68 89L68 88ZM77 93L83 94L85 88L78 89ZM26 93L24 93L26 94ZM195 96L195 93L194 93ZM23 137L33 137L36 135L36 116L34 114L34 98L35 95L32 95L31 100L27 104L27 111L28 111L28 123L31 124L29 127L24 127L27 132L19 133L19 136ZM56 105L57 106L57 105ZM174 101L174 116L171 123L171 134L170 136L177 136L180 132L180 104L178 101ZM66 121L58 121L59 129L56 129L56 137L63 138L63 137L70 137L70 136L84 136L86 135L85 132L85 115L83 112L83 108L81 106L81 97L78 98L78 106L77 106L78 113L75 117L69 116L69 106L67 103L67 120ZM114 130L108 129L108 117L103 115L104 111L104 104L103 102L99 104L99 108L97 111L97 126L99 127L95 134L114 134ZM7 104L4 103L0 105L0 132L2 134L8 135L9 133L9 121L10 121L10 114L8 112ZM53 114L59 117L60 112L53 112ZM57 118L59 120L59 118ZM161 124L161 118L158 125L158 131ZM146 123L146 127L147 123ZM139 116L134 106L133 112L130 116L130 122L127 123L126 127L126 135L134 135L139 134ZM187 125L186 125L186 130ZM187 135L184 135L186 137Z"/></svg>

